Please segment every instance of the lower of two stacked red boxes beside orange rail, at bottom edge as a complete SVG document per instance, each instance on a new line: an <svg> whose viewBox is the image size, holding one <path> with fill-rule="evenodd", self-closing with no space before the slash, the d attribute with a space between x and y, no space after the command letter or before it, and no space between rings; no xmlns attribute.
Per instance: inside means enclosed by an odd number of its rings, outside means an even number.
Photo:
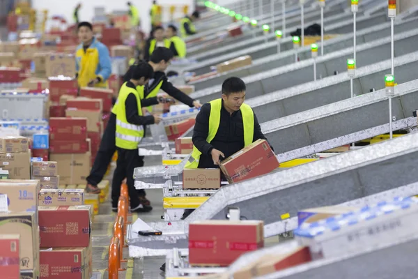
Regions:
<svg viewBox="0 0 418 279"><path fill-rule="evenodd" d="M90 279L89 248L40 250L40 278Z"/></svg>

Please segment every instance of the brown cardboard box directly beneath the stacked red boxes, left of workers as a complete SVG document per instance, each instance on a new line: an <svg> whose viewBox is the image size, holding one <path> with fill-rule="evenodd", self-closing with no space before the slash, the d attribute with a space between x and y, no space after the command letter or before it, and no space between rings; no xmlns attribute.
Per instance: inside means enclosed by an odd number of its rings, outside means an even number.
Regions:
<svg viewBox="0 0 418 279"><path fill-rule="evenodd" d="M51 154L51 160L59 163L61 184L85 184L90 172L91 153Z"/></svg>

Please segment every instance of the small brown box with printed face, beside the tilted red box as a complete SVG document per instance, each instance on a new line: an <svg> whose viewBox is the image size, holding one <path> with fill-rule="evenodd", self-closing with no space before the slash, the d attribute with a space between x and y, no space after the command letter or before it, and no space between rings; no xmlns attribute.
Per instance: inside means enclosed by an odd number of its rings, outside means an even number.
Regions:
<svg viewBox="0 0 418 279"><path fill-rule="evenodd" d="M219 189L220 169L183 169L184 189Z"/></svg>

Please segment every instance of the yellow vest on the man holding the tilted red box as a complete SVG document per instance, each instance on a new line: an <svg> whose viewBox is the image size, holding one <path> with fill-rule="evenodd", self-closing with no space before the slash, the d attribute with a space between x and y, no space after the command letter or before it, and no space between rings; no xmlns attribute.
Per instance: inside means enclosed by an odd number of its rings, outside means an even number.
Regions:
<svg viewBox="0 0 418 279"><path fill-rule="evenodd" d="M221 122L222 99L212 100L210 103L209 133L206 142L210 143L215 138L219 123ZM244 146L252 144L254 140L254 112L247 104L241 105L242 124L244 126ZM185 169L197 169L201 151L193 146L192 155L185 165Z"/></svg>

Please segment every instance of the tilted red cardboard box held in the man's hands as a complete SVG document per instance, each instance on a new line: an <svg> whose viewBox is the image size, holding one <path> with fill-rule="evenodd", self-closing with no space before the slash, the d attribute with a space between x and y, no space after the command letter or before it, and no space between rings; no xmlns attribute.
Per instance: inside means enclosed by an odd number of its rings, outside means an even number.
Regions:
<svg viewBox="0 0 418 279"><path fill-rule="evenodd" d="M223 160L220 167L229 183L236 183L272 172L279 161L266 140L256 140Z"/></svg>

